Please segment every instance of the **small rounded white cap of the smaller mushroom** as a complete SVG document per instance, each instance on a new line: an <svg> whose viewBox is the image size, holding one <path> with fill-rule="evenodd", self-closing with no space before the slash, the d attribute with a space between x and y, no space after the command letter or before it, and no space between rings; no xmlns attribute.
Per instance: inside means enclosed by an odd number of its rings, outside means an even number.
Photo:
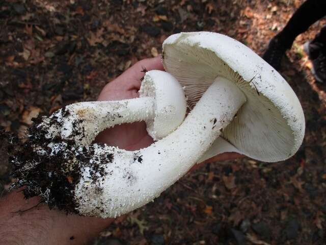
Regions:
<svg viewBox="0 0 326 245"><path fill-rule="evenodd" d="M184 91L179 82L166 71L147 71L139 96L154 97L154 120L146 120L147 132L154 139L161 139L174 131L186 113Z"/></svg>

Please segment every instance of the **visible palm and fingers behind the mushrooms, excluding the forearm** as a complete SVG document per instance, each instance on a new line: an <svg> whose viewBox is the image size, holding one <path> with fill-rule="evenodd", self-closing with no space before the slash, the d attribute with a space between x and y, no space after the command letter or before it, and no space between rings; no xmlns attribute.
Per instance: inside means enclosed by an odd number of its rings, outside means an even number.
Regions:
<svg viewBox="0 0 326 245"><path fill-rule="evenodd" d="M98 100L115 101L138 97L138 90L141 86L141 79L144 76L144 69L164 70L164 67L159 57L141 60L126 70L121 76L108 83L102 89ZM153 139L148 135L146 124L142 121L133 122L132 124L116 125L113 128L106 129L96 137L96 142L133 151L146 148L153 143ZM207 159L203 163L230 160L239 157L241 155L237 153L223 153ZM197 164L192 169L197 168L199 165Z"/></svg>

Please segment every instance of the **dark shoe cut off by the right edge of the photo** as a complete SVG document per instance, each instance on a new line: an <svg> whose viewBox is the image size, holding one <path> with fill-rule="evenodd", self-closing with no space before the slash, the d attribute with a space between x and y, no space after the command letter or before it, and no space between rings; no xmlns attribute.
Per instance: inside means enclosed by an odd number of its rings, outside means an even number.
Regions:
<svg viewBox="0 0 326 245"><path fill-rule="evenodd" d="M312 74L319 83L326 81L326 46L320 42L306 42L304 50L312 61Z"/></svg>

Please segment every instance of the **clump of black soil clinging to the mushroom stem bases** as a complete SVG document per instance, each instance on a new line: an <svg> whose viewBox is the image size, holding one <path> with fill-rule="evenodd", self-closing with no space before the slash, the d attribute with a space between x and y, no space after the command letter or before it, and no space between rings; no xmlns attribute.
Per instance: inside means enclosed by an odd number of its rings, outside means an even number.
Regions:
<svg viewBox="0 0 326 245"><path fill-rule="evenodd" d="M42 116L34 119L34 125L29 128L29 137L26 142L20 141L17 135L2 133L8 140L12 177L16 179L11 189L23 187L26 199L39 196L40 202L46 203L50 209L57 207L67 213L77 213L74 187L80 178L80 166L89 164L94 150L92 146L79 146L78 154L76 154L74 140L62 139L58 136L46 138L47 130L38 127L42 121ZM52 117L47 126L51 127L57 123L56 118ZM79 121L75 122L76 128L79 123ZM48 146L50 143L60 143L60 150L53 153ZM110 156L107 157L106 160L110 161ZM92 169L92 181L96 181L103 173L98 164L93 164Z"/></svg>

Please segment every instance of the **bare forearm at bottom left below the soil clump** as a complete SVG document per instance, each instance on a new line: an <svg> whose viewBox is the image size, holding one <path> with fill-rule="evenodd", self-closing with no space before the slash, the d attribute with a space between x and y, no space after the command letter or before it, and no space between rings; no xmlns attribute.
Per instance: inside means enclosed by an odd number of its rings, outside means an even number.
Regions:
<svg viewBox="0 0 326 245"><path fill-rule="evenodd" d="M67 215L38 203L17 191L0 199L0 244L86 244L114 220Z"/></svg>

